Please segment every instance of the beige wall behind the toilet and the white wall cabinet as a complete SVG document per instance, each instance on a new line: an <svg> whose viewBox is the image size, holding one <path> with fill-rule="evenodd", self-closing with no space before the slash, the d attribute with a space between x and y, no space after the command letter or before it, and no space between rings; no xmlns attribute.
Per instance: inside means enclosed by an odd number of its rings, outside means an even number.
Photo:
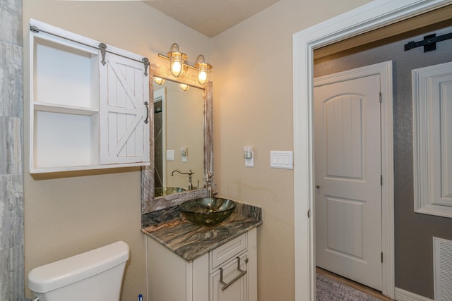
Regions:
<svg viewBox="0 0 452 301"><path fill-rule="evenodd" d="M139 1L24 0L24 57L28 55L28 19L126 49L157 63L157 53L178 42L189 60L210 57L210 39L158 13ZM193 57L194 56L194 57ZM25 59L24 74L28 75ZM162 63L166 63L163 61ZM28 78L25 76L25 121ZM28 166L28 125L25 125L25 166ZM30 269L124 240L131 247L122 300L146 294L145 247L141 234L141 173L139 168L114 168L32 177L25 167L25 275ZM30 297L30 291L26 289Z"/></svg>

